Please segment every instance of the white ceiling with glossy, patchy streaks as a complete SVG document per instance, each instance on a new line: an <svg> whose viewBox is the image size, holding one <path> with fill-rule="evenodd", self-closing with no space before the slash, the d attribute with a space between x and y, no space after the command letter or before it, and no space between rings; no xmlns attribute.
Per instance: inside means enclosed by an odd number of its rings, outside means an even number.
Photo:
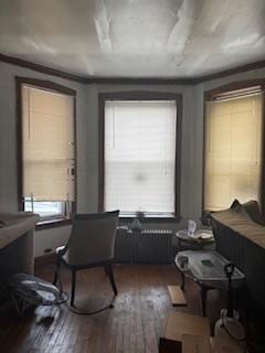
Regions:
<svg viewBox="0 0 265 353"><path fill-rule="evenodd" d="M265 58L265 0L0 0L0 53L96 77L193 77Z"/></svg>

